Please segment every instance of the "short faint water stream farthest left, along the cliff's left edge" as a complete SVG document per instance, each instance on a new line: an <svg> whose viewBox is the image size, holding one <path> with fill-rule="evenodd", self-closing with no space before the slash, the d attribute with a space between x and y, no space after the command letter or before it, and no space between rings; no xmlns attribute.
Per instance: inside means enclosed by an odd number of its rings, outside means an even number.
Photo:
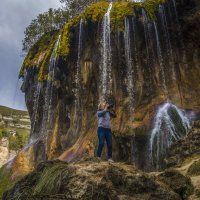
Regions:
<svg viewBox="0 0 200 200"><path fill-rule="evenodd" d="M34 134L35 128L36 128L35 126L36 126L36 123L38 122L38 105L39 105L41 87L42 87L42 84L37 83L37 87L36 87L36 90L34 92L33 114L32 114L32 120L31 120L33 122L33 125L32 125L31 135Z"/></svg>

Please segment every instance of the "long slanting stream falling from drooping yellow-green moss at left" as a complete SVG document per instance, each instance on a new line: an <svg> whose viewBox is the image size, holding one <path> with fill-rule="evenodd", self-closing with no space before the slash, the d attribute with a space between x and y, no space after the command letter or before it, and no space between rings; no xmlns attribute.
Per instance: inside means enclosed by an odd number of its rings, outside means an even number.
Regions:
<svg viewBox="0 0 200 200"><path fill-rule="evenodd" d="M55 78L55 68L57 64L57 50L60 45L60 39L61 35L58 36L58 39L55 43L53 52L51 54L49 68L48 68L48 78L47 78L47 86L45 90L45 96L44 96L44 111L43 111L43 119L42 119L42 134L44 134L44 137L47 137L48 131L48 125L49 120L51 118L51 106L52 106L52 99L53 99L53 82Z"/></svg>

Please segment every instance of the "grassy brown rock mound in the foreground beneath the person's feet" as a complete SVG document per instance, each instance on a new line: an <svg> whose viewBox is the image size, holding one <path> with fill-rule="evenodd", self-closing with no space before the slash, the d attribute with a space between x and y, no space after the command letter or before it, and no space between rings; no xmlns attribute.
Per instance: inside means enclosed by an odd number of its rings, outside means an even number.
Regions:
<svg viewBox="0 0 200 200"><path fill-rule="evenodd" d="M95 200L181 200L193 192L189 177L178 170L144 173L124 163L43 162L22 178L3 200L95 199Z"/></svg>

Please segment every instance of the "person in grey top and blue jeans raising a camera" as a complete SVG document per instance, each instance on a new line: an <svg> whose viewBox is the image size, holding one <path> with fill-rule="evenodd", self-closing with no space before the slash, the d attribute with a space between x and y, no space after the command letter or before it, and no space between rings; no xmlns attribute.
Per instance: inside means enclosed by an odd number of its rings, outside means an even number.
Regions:
<svg viewBox="0 0 200 200"><path fill-rule="evenodd" d="M99 145L97 149L97 158L101 160L101 154L104 147L104 141L107 143L107 156L109 162L114 162L112 160L112 132L110 127L110 118L116 117L116 113L113 109L113 105L109 105L106 101L101 102L98 106L97 118L98 118L98 139Z"/></svg>

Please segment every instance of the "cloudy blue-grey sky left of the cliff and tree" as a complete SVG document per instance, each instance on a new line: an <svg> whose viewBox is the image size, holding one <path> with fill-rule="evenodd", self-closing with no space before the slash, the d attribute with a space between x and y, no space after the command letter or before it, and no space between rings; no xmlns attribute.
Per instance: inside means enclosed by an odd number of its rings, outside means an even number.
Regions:
<svg viewBox="0 0 200 200"><path fill-rule="evenodd" d="M24 30L39 13L59 6L59 0L1 0L0 105L26 110L18 80Z"/></svg>

